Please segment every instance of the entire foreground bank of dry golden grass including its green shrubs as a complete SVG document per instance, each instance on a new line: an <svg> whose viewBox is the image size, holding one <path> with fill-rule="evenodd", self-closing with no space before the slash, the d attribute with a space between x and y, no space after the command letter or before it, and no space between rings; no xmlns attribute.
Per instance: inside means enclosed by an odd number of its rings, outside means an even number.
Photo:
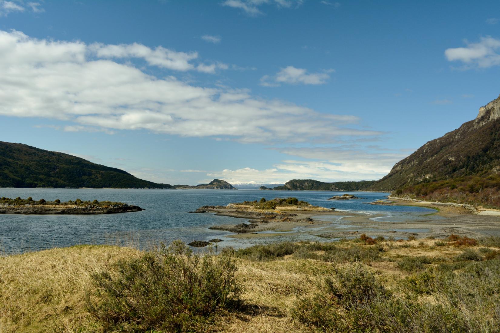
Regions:
<svg viewBox="0 0 500 333"><path fill-rule="evenodd" d="M1 332L499 332L500 239L0 258Z"/></svg>

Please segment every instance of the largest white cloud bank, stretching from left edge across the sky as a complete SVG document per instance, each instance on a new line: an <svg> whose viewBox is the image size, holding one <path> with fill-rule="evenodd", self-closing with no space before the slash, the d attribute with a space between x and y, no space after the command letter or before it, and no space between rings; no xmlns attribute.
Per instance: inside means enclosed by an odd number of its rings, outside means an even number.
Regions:
<svg viewBox="0 0 500 333"><path fill-rule="evenodd" d="M244 89L195 86L172 76L159 79L128 62L113 61L133 56L154 66L187 70L194 55L139 44L35 39L0 30L0 115L243 143L382 134L357 128L359 119L353 116L264 100Z"/></svg>

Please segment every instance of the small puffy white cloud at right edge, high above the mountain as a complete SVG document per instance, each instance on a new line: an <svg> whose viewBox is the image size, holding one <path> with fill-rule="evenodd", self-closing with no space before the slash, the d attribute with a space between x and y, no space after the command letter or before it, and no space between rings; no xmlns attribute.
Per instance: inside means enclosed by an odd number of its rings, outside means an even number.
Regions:
<svg viewBox="0 0 500 333"><path fill-rule="evenodd" d="M448 48L444 55L448 61L464 63L463 69L487 68L500 65L500 39L481 37L478 43L469 43L466 47Z"/></svg>

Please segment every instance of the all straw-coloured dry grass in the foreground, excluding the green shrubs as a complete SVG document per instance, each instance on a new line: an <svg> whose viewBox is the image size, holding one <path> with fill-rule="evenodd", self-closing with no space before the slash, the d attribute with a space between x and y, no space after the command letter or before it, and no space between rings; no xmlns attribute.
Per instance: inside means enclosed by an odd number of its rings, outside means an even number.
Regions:
<svg viewBox="0 0 500 333"><path fill-rule="evenodd" d="M382 242L382 261L363 265L397 293L398 284L410 275L398 268L401 258L426 256L432 260L427 265L434 266L452 262L463 251L453 246L432 247L434 242L407 242L411 248ZM391 243L396 246L391 247ZM346 242L341 246L359 245ZM321 251L316 253L320 255ZM0 332L101 331L84 306L85 291L92 288L90 274L112 269L117 260L140 254L126 247L85 245L0 258ZM326 276L333 276L336 267L348 265L292 255L267 261L235 261L236 277L243 288L243 309L218 314L206 332L311 332L291 317L297 297L320 291Z"/></svg>

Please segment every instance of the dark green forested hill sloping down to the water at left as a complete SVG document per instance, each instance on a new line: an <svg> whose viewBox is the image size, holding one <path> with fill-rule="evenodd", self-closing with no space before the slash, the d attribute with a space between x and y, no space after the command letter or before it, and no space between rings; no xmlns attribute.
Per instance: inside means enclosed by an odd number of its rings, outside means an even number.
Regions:
<svg viewBox="0 0 500 333"><path fill-rule="evenodd" d="M76 156L2 141L0 187L173 188Z"/></svg>

